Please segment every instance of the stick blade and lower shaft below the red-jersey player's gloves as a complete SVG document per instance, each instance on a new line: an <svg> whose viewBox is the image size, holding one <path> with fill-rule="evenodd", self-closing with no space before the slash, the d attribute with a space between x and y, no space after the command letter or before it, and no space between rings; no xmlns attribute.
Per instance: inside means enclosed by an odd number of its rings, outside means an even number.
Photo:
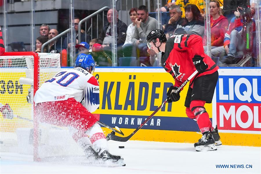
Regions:
<svg viewBox="0 0 261 174"><path fill-rule="evenodd" d="M142 122L141 125L139 125L139 127L137 129L135 129L135 131L133 131L133 133L131 133L131 135L129 135L128 137L119 137L117 135L113 135L111 133L109 133L107 135L107 140L113 140L113 141L119 141L119 142L126 142L128 141L140 128L142 128L142 126L144 126L144 124L146 124L151 117L153 117L165 104L167 103L167 100L165 100L162 105L160 105L146 120L144 120L144 122Z"/></svg>

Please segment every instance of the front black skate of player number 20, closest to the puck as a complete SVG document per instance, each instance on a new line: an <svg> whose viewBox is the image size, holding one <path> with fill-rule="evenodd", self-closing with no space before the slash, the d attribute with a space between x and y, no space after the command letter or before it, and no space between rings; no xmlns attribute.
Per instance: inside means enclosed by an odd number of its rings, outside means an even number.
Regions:
<svg viewBox="0 0 261 174"><path fill-rule="evenodd" d="M102 153L99 153L99 158L102 159L102 161L104 162L111 162L113 164L118 164L120 166L126 166L121 156L112 155L107 150L104 150L102 151Z"/></svg>

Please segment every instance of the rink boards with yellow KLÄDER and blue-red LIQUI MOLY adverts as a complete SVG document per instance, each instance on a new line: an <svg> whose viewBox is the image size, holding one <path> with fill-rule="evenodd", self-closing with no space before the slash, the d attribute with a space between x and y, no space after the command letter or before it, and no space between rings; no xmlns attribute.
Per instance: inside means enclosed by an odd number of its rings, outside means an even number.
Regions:
<svg viewBox="0 0 261 174"><path fill-rule="evenodd" d="M16 85L10 87L8 81L18 79L8 79L12 72L0 75L5 78L0 85L0 102L3 103L3 97L20 97L26 104L29 86L22 85L22 93L10 93ZM95 113L100 114L100 121L118 126L126 136L164 102L168 87L174 84L173 77L163 68L96 68L94 75L100 84L100 106ZM205 108L213 124L218 125L222 143L261 146L261 69L222 68L219 75L213 103ZM187 89L188 85L178 102L166 104L131 139L193 143L200 138L196 122L186 116Z"/></svg>

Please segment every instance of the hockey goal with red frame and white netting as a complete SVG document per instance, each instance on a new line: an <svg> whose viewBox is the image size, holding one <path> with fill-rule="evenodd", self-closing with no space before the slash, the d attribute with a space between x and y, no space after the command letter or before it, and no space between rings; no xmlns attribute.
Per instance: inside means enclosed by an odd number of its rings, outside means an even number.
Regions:
<svg viewBox="0 0 261 174"><path fill-rule="evenodd" d="M39 144L47 144L44 130L51 131L52 126L44 129L46 125L38 124L33 95L60 70L60 54L5 52L0 56L1 152L30 154L34 160L43 156Z"/></svg>

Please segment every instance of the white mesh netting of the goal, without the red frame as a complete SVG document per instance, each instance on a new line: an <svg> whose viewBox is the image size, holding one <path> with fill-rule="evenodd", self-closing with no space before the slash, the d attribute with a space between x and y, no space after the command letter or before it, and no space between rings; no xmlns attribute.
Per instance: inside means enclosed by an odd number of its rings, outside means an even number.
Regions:
<svg viewBox="0 0 261 174"><path fill-rule="evenodd" d="M60 55L52 53L38 55L38 77L41 85L61 70ZM0 56L1 152L8 151L7 147L17 145L17 137L19 138L17 133L21 132L21 128L30 130L33 128L33 122L30 121L33 119L33 105L27 102L31 85L21 84L22 77L29 81L33 80L33 65L32 55L19 56L19 53L14 53L14 56Z"/></svg>

